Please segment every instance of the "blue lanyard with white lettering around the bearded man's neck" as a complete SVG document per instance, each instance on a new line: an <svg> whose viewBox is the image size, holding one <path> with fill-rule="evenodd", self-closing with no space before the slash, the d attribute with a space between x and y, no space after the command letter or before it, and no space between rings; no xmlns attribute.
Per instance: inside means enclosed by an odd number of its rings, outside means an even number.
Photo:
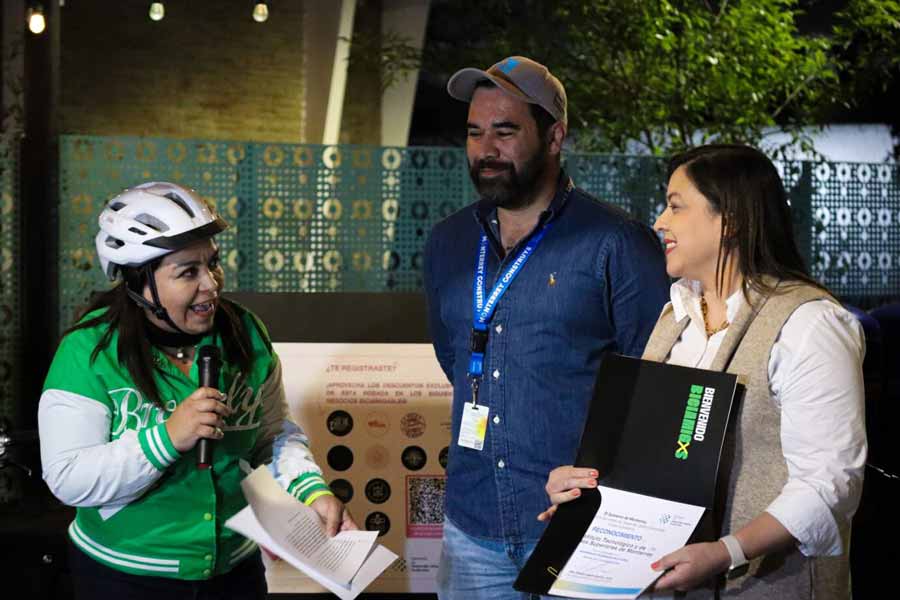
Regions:
<svg viewBox="0 0 900 600"><path fill-rule="evenodd" d="M481 235L481 241L478 246L478 256L475 260L475 281L472 285L472 305L474 314L474 323L472 325L472 338L470 350L472 351L469 359L469 377L473 380L473 385L477 386L476 380L481 379L484 375L484 351L487 347L488 323L494 315L494 309L497 303L509 286L512 285L516 275L521 272L522 267L529 258L534 254L535 249L544 235L550 229L552 222L544 225L540 231L534 234L525 247L519 251L516 259L506 268L503 275L494 284L494 289L487 294L485 289L485 264L487 263L488 238L486 234ZM477 390L477 387L476 387Z"/></svg>

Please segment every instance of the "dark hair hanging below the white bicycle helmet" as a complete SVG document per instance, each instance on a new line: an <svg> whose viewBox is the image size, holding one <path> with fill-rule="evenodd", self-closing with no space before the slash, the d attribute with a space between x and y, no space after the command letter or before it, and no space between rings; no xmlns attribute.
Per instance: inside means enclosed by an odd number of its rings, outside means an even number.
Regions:
<svg viewBox="0 0 900 600"><path fill-rule="evenodd" d="M100 352L112 343L113 334L118 332L116 351L119 364L128 369L128 374L144 397L158 406L163 406L163 402L153 376L155 373L159 373L167 377L168 374L159 369L153 361L153 353L147 335L147 317L144 309L128 297L127 288L143 294L144 286L147 283L147 273L155 272L161 261L161 258L153 261L150 263L149 269L122 268L123 281L120 281L112 289L97 294L79 312L75 319L76 324L63 333L65 336L79 329L107 324L108 328L91 353L91 363L93 363L97 360ZM106 310L95 317L83 320L85 315L101 308L106 308ZM213 328L222 337L225 359L237 363L243 373L249 373L253 357L250 352L250 337L241 321L240 311L241 309L237 305L224 298L220 299Z"/></svg>

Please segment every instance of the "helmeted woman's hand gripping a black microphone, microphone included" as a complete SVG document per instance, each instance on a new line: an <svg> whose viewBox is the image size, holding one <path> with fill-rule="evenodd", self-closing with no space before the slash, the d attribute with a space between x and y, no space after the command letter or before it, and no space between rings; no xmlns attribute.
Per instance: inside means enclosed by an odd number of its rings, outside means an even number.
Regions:
<svg viewBox="0 0 900 600"><path fill-rule="evenodd" d="M166 430L172 445L179 452L187 452L197 446L197 467L209 468L212 464L212 441L220 439L225 417L232 414L218 386L221 359L215 346L202 346L195 358L199 371L200 388L178 405L166 421Z"/></svg>

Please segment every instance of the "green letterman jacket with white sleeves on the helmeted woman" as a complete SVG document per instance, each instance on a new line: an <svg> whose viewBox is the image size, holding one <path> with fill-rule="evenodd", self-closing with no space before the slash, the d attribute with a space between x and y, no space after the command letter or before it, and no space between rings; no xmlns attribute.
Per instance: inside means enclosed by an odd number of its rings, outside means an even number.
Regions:
<svg viewBox="0 0 900 600"><path fill-rule="evenodd" d="M257 550L224 523L246 505L240 482L259 464L268 463L301 502L331 493L306 435L287 419L281 366L266 330L232 306L250 332L254 360L249 373L223 362L219 389L235 412L215 443L212 469L197 469L196 449L177 452L165 427L198 387L196 363L188 378L153 349L163 409L143 398L120 364L117 334L91 361L107 325L73 331L59 345L38 410L44 479L77 507L72 542L108 567L190 580L230 571ZM198 347L205 344L223 349L217 334Z"/></svg>

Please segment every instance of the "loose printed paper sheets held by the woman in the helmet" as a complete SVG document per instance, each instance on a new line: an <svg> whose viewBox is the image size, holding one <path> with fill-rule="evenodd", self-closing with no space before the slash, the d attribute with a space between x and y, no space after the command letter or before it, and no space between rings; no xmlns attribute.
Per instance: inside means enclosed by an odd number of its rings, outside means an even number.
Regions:
<svg viewBox="0 0 900 600"><path fill-rule="evenodd" d="M259 467L243 482L249 505L225 525L268 548L342 600L362 592L397 555L375 544L375 531L345 531L333 538L319 517Z"/></svg>

